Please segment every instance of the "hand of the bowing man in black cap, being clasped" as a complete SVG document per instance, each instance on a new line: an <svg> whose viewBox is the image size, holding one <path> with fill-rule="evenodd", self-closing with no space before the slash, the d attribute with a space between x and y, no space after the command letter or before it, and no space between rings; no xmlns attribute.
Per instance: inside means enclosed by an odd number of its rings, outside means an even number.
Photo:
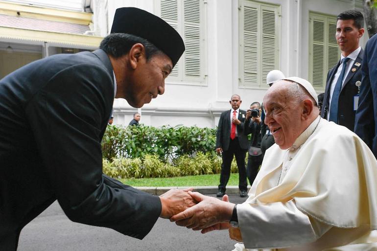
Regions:
<svg viewBox="0 0 377 251"><path fill-rule="evenodd" d="M160 195L162 205L160 217L169 219L171 216L196 205L197 202L188 194L188 191L191 192L192 188L184 190L171 189Z"/></svg>

